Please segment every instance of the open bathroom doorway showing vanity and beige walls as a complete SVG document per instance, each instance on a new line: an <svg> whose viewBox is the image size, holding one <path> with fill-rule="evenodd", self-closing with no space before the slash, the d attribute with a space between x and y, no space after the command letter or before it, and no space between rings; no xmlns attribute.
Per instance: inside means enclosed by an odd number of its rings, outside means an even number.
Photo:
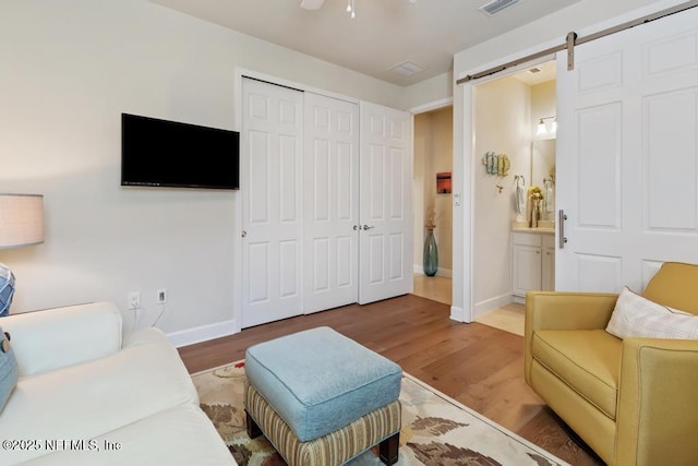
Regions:
<svg viewBox="0 0 698 466"><path fill-rule="evenodd" d="M519 334L526 290L554 288L555 73L552 60L472 87L472 315Z"/></svg>

